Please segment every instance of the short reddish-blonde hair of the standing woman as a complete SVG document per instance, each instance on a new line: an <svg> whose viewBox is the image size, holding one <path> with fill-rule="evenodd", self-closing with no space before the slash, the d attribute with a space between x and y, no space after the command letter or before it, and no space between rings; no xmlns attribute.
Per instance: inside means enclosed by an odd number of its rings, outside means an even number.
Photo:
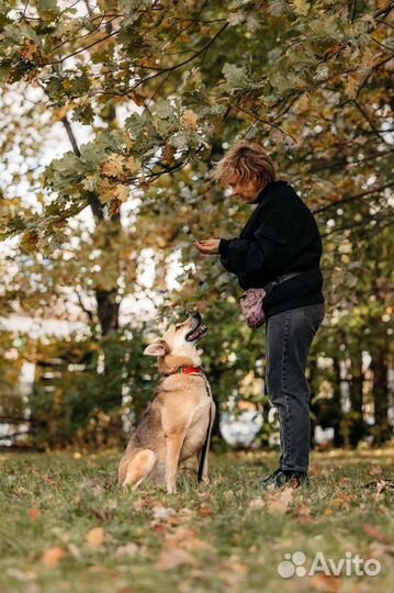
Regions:
<svg viewBox="0 0 394 593"><path fill-rule="evenodd" d="M210 177L222 186L228 186L236 177L241 182L255 181L264 187L277 179L277 172L261 143L240 141L214 165Z"/></svg>

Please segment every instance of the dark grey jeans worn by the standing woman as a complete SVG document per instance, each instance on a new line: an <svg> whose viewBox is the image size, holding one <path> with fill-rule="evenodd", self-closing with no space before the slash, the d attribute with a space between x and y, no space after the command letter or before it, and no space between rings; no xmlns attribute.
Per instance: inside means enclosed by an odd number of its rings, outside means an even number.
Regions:
<svg viewBox="0 0 394 593"><path fill-rule="evenodd" d="M325 304L318 303L283 311L266 322L266 390L279 412L281 469L308 469L311 392L305 368L324 316Z"/></svg>

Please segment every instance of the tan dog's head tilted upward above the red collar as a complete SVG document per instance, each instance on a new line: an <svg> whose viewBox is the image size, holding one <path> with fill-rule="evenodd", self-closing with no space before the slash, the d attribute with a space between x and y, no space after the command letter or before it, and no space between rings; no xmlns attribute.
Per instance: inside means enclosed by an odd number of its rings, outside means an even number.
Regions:
<svg viewBox="0 0 394 593"><path fill-rule="evenodd" d="M171 325L165 335L147 346L144 354L164 357L167 355L189 358L193 365L201 365L196 345L207 329L202 324L200 313L194 313L187 321Z"/></svg>

